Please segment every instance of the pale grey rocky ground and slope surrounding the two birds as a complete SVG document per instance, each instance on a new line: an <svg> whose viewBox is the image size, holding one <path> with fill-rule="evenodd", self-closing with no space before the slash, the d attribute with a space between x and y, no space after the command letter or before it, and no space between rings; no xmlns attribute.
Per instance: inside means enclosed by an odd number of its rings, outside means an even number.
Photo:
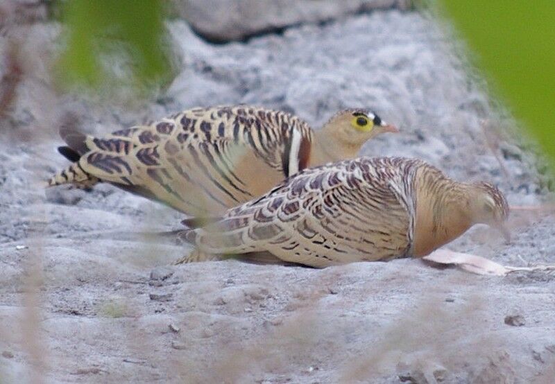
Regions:
<svg viewBox="0 0 555 384"><path fill-rule="evenodd" d="M364 155L420 157L498 184L513 205L549 201L513 120L450 33L408 2L174 3L178 70L148 101L61 92L50 2L0 6L0 382L552 383L551 274L479 277L418 260L173 267L188 250L141 233L176 229L180 214L110 186L42 189L67 164L56 146L68 113L100 134L248 103L315 128L371 107L402 134ZM475 227L449 248L555 262L551 213L513 211L511 227L509 245Z"/></svg>

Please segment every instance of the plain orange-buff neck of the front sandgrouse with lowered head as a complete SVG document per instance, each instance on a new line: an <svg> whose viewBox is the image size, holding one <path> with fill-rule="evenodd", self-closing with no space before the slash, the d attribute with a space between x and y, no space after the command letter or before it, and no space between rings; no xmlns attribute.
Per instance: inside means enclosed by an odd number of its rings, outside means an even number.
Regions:
<svg viewBox="0 0 555 384"><path fill-rule="evenodd" d="M439 172L439 171L437 171ZM436 172L432 172L436 173ZM416 221L413 256L426 256L461 236L474 222L470 216L470 184L455 182L441 174L419 170L415 178Z"/></svg>

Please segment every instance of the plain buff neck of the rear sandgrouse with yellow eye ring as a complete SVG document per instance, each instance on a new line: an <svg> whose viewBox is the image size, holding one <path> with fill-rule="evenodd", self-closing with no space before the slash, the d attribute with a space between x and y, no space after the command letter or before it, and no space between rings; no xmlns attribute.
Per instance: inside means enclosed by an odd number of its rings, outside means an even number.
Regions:
<svg viewBox="0 0 555 384"><path fill-rule="evenodd" d="M357 157L359 150L360 146L344 143L324 127L314 132L309 165L321 166L329 162L353 159Z"/></svg>

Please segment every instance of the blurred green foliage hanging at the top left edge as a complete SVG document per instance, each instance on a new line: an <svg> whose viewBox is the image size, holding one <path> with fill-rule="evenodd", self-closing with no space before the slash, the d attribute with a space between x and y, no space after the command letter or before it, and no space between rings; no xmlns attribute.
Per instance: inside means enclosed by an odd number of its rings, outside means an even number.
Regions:
<svg viewBox="0 0 555 384"><path fill-rule="evenodd" d="M58 6L67 39L58 67L62 82L143 86L169 77L161 0L69 0ZM107 57L124 64L107 65Z"/></svg>

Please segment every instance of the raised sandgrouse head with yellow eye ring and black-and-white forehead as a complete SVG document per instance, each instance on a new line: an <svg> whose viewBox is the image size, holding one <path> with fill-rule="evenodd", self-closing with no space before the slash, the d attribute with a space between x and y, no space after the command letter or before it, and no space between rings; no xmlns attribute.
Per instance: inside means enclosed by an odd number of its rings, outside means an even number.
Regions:
<svg viewBox="0 0 555 384"><path fill-rule="evenodd" d="M336 113L323 130L339 144L361 147L366 141L384 132L399 132L395 125L383 121L370 110L351 109Z"/></svg>

